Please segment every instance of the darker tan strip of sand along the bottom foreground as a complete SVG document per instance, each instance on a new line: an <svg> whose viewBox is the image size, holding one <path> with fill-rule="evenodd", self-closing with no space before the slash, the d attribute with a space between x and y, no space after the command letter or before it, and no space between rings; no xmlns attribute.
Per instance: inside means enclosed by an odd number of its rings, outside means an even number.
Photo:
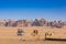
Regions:
<svg viewBox="0 0 66 44"><path fill-rule="evenodd" d="M66 44L66 41L19 41L19 40L0 40L0 44Z"/></svg>

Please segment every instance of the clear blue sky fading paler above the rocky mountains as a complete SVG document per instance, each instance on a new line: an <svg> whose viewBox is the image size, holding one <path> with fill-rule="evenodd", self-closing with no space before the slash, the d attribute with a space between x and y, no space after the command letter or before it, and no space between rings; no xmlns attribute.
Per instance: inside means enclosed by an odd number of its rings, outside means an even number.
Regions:
<svg viewBox="0 0 66 44"><path fill-rule="evenodd" d="M66 0L0 0L0 19L66 21Z"/></svg>

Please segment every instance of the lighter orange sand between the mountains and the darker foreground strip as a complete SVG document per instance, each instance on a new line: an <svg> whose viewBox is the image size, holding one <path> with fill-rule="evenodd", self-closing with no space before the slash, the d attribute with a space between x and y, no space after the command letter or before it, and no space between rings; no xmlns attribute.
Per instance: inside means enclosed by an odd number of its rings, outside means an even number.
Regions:
<svg viewBox="0 0 66 44"><path fill-rule="evenodd" d="M18 29L24 31L24 35L18 36ZM33 31L37 30L38 34L33 36ZM23 40L44 40L45 33L52 34L46 35L46 37L52 38L66 38L66 28L46 28L46 26L29 26L29 28L6 28L0 26L0 38L23 38Z"/></svg>

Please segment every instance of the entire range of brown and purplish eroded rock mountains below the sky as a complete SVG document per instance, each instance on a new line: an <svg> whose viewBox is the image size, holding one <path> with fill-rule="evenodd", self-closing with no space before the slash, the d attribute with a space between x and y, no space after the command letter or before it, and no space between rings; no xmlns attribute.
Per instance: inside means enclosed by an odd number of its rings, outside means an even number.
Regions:
<svg viewBox="0 0 66 44"><path fill-rule="evenodd" d="M45 19L33 20L0 20L0 26L66 26L66 22L61 21L46 21Z"/></svg>

